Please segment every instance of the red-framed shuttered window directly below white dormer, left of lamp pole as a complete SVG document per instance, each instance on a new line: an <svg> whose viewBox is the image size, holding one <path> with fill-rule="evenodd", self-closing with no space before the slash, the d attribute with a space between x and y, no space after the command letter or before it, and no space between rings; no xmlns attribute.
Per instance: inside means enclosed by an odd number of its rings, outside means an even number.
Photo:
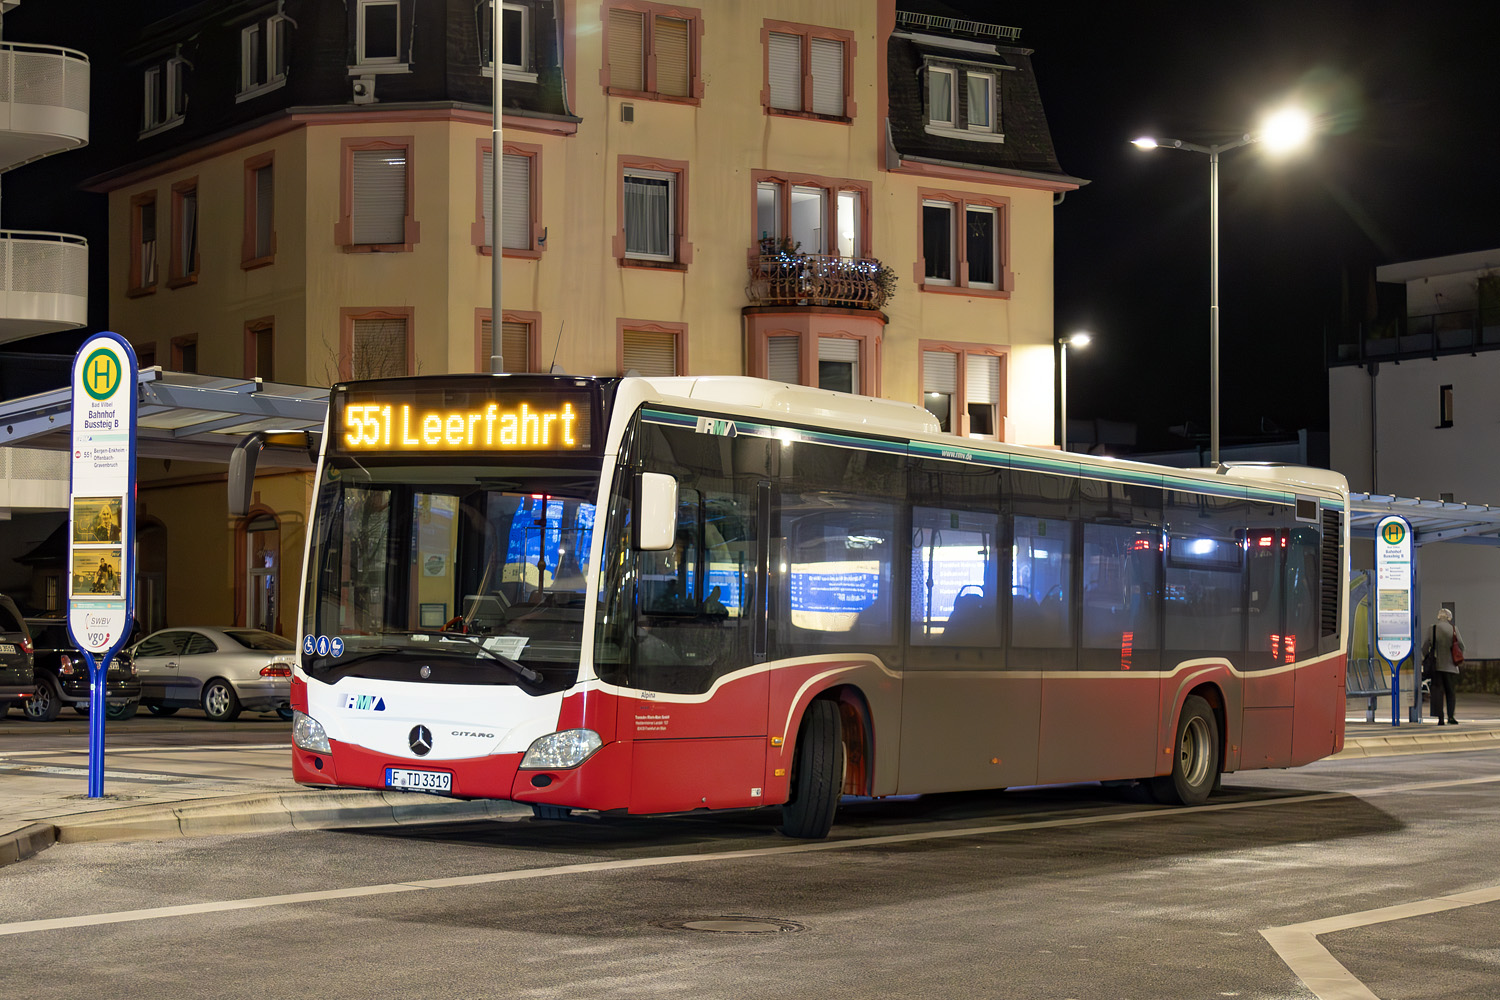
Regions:
<svg viewBox="0 0 1500 1000"><path fill-rule="evenodd" d="M342 216L334 241L351 252L411 250L411 136L344 139Z"/></svg>

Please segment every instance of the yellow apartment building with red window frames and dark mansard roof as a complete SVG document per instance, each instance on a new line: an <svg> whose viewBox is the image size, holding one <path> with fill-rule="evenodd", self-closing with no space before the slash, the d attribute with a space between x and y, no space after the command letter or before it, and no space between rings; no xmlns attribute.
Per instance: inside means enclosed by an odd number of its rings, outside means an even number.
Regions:
<svg viewBox="0 0 1500 1000"><path fill-rule="evenodd" d="M1052 445L1052 210L1084 181L1018 30L939 9L190 7L130 49L128 154L92 183L111 325L142 367L226 379L747 373ZM228 517L222 466L142 460L148 624L286 634L309 496L266 468Z"/></svg>

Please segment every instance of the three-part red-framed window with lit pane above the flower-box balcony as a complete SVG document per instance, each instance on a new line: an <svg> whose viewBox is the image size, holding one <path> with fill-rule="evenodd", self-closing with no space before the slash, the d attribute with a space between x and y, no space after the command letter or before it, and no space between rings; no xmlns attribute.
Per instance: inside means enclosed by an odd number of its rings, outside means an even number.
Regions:
<svg viewBox="0 0 1500 1000"><path fill-rule="evenodd" d="M753 171L756 240L783 237L800 253L866 256L870 220L870 184L837 177L777 175ZM762 244L764 249L764 244Z"/></svg>

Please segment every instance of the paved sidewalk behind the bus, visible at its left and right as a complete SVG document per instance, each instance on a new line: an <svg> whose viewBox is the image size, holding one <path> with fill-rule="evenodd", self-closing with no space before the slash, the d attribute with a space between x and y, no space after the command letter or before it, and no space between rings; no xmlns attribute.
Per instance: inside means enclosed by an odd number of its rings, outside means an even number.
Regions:
<svg viewBox="0 0 1500 1000"><path fill-rule="evenodd" d="M1419 724L1402 720L1401 726L1392 726L1389 702L1383 702L1383 709L1386 721L1366 723L1364 700L1350 699L1340 759L1500 748L1500 696L1461 696L1461 724L1452 727L1436 726L1432 720ZM87 727L76 729L87 751ZM212 727L206 730L201 724L195 727L184 721L182 732L212 732ZM268 729L267 739L285 739L285 730ZM154 781L148 771L142 771L140 757L152 753L152 748L106 748L105 798L90 799L87 760L82 768L27 765L26 759L32 751L24 750L20 739L0 738L0 865L30 858L54 843L476 819L514 820L531 816L530 807L514 802L466 802L408 792L304 789L291 781L290 763L285 771L279 766L286 754L285 744L224 750L234 750L236 759L248 763L232 774L206 774L190 780L164 777ZM34 756L57 754L34 751Z"/></svg>

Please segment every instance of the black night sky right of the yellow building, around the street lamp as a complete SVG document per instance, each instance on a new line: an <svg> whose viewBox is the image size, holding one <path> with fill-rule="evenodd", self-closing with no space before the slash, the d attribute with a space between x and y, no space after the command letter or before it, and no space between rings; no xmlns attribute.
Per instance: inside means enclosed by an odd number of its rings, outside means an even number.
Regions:
<svg viewBox="0 0 1500 1000"><path fill-rule="evenodd" d="M1054 210L1070 415L1209 423L1209 157L1300 97L1324 130L1294 159L1220 157L1222 441L1328 427L1324 337L1346 273L1500 246L1500 55L1486 3L981 3L1022 28L1062 168ZM1486 27L1491 25L1491 27Z"/></svg>

